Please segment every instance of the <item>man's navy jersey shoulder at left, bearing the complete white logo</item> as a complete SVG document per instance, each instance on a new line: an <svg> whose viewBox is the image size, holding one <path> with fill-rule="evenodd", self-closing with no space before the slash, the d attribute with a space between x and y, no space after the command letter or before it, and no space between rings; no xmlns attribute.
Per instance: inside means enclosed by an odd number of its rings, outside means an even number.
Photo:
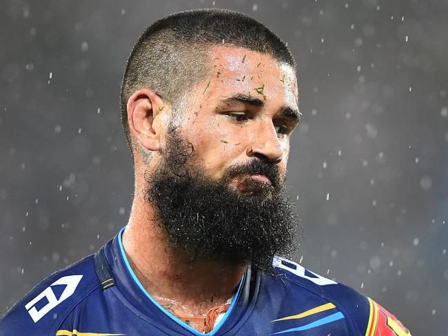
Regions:
<svg viewBox="0 0 448 336"><path fill-rule="evenodd" d="M0 336L54 335L65 316L99 286L93 255L53 273L2 317Z"/></svg>

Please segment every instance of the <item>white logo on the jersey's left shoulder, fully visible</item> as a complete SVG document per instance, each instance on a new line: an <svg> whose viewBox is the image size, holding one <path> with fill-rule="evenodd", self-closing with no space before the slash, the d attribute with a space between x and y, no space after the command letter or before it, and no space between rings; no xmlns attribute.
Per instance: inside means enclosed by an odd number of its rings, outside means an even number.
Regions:
<svg viewBox="0 0 448 336"><path fill-rule="evenodd" d="M61 279L54 281L49 287L45 288L41 294L37 295L37 297L34 297L34 299L28 302L28 304L25 305L25 308L28 310L28 313L34 323L39 321L39 319L44 317L46 313L63 302L63 300L70 297L74 293L74 290L77 289L79 281L81 281L82 277L82 275L68 275L67 277L61 277ZM54 295L51 288L51 286L55 285L66 285L59 299L56 298L56 295ZM43 306L40 310L37 310L35 304L41 301L44 297L48 300L48 304L45 304L45 306Z"/></svg>

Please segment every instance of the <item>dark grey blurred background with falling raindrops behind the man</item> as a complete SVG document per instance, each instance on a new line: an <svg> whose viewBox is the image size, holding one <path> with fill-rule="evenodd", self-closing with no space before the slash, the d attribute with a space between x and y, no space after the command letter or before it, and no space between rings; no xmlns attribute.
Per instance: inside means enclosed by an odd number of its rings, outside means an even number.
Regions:
<svg viewBox="0 0 448 336"><path fill-rule="evenodd" d="M125 61L156 19L214 6L265 23L298 63L294 259L414 336L448 335L446 0L2 0L0 313L126 224Z"/></svg>

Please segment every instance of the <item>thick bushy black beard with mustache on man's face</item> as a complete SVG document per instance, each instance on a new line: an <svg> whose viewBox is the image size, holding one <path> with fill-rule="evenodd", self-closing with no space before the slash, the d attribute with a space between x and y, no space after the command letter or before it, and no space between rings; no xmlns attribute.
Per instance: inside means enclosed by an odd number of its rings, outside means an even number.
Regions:
<svg viewBox="0 0 448 336"><path fill-rule="evenodd" d="M192 144L172 129L161 164L145 177L146 199L169 243L192 259L250 264L272 273L274 255L287 257L297 245L298 218L278 167L254 158L230 167L222 181L212 181L202 166L188 164L193 152ZM272 186L250 179L246 195L232 189L228 182L244 174L266 175Z"/></svg>

